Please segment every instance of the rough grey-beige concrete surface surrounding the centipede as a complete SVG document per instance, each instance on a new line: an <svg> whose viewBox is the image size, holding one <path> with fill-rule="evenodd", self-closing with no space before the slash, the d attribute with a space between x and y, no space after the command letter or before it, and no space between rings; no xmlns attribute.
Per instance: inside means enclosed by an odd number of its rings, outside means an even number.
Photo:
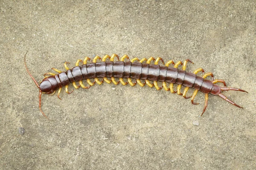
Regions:
<svg viewBox="0 0 256 170"><path fill-rule="evenodd" d="M0 169L256 169L256 1L0 1ZM35 79L85 56L191 59L249 94L189 99L136 85L43 95ZM70 86L70 90L73 87ZM189 90L189 94L192 94ZM197 126L199 123L199 126Z"/></svg>

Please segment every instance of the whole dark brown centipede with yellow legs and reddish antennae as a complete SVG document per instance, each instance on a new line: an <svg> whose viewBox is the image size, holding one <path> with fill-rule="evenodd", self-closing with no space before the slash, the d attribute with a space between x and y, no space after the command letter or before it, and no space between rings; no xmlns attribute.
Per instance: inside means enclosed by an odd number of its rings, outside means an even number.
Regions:
<svg viewBox="0 0 256 170"><path fill-rule="evenodd" d="M113 54L112 56L105 55L102 58L96 56L93 58L93 61L91 61L89 57L85 57L84 60L77 60L76 66L71 69L67 66L67 64L70 63L64 62L66 71L59 71L56 68L52 68L52 70L57 74L48 72L44 74L44 79L38 83L29 72L26 65L26 54L24 55L25 68L36 86L39 88L39 110L47 119L49 118L41 108L42 93L52 95L58 90L57 96L61 99L60 93L63 87L65 87L67 94L71 94L73 92L68 90L68 86L70 84L72 84L75 89L80 87L88 89L95 83L101 85L103 82L107 82L108 84L113 82L115 85L119 83L122 85L129 84L131 86L139 84L141 87L148 85L150 88L154 86L157 90L164 88L166 91L170 91L172 94L177 93L185 99L191 98L191 103L193 105L199 104L194 102L194 99L198 94L198 91L201 91L205 94L204 109L201 116L207 108L209 94L220 96L232 105L242 108L224 96L222 92L232 90L248 93L240 88L227 87L226 82L223 79L214 79L212 72L205 73L203 68L198 68L193 73L186 71L186 65L188 62L194 64L190 59L186 59L184 62L178 61L176 63L173 60L169 60L164 63L163 59L160 57L157 57L157 59L154 59L154 57L150 57L148 59L138 59L135 57L130 60L127 55L124 55L119 59L117 54ZM114 61L115 58L117 58L117 61ZM106 61L106 59L109 61ZM97 62L97 60L99 60L99 62ZM87 63L88 61L90 63ZM151 64L151 61L154 62L154 64ZM163 66L159 65L160 61L163 62ZM81 65L79 65L80 62ZM170 65L173 65L173 67L169 67ZM178 69L179 65L182 66L182 69L180 70ZM202 72L203 76L198 76L198 72ZM211 81L206 79L209 76L212 77ZM102 78L102 80L99 80L99 78ZM126 78L127 81L124 81L124 78ZM94 79L94 81L92 82L91 79ZM119 80L116 81L116 79ZM83 80L86 80L88 86L84 85ZM141 80L144 80L145 82L141 82ZM160 87L158 86L158 82L162 82ZM216 85L218 82L222 83L224 87ZM79 83L79 85L76 83ZM169 83L169 85L166 83ZM177 84L176 91L174 90L174 84ZM185 86L183 93L181 93L182 86ZM186 96L189 88L194 89L192 96Z"/></svg>

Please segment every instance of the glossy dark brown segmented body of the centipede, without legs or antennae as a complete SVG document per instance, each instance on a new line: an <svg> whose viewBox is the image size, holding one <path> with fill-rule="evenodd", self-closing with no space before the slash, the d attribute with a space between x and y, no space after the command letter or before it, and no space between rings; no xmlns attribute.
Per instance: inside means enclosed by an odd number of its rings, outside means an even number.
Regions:
<svg viewBox="0 0 256 170"><path fill-rule="evenodd" d="M203 93L211 93L214 84L196 74L160 65L143 64L141 62L97 62L76 66L66 72L44 79L40 84L43 92L49 93L58 90L80 80L115 77L132 78L151 81L160 81L184 85L200 90ZM216 89L214 89L216 90ZM219 88L220 91L220 88Z"/></svg>

